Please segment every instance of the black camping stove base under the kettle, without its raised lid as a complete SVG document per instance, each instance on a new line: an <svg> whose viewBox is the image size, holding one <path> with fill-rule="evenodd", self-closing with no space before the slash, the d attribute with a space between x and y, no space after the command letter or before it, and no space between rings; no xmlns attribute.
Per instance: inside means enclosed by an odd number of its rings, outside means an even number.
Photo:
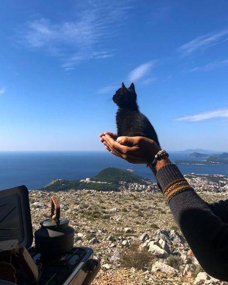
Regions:
<svg viewBox="0 0 228 285"><path fill-rule="evenodd" d="M54 260L42 258L35 248L29 248L29 253L39 269L36 285L88 285L100 269L91 248L73 247ZM31 285L23 272L18 271L17 277L18 285Z"/></svg>

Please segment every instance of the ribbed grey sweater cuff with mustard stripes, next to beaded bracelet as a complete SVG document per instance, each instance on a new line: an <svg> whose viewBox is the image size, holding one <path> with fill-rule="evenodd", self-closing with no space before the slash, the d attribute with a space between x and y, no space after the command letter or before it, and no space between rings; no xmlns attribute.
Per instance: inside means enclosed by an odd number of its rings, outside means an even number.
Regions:
<svg viewBox="0 0 228 285"><path fill-rule="evenodd" d="M156 178L168 202L177 193L191 189L178 167L172 163L162 166L158 170Z"/></svg>

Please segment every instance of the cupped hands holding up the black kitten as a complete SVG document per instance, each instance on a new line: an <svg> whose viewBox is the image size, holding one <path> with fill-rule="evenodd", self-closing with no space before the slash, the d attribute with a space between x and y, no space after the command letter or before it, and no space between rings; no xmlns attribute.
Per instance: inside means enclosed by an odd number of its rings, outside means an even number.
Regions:
<svg viewBox="0 0 228 285"><path fill-rule="evenodd" d="M117 137L111 132L101 133L100 137L108 151L135 164L148 164L160 150L155 141L145 137Z"/></svg>

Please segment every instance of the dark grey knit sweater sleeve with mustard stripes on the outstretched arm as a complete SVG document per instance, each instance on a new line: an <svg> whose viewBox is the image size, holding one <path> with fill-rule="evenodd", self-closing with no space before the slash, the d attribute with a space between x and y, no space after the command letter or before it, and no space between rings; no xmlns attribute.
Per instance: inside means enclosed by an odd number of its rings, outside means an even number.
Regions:
<svg viewBox="0 0 228 285"><path fill-rule="evenodd" d="M214 215L174 164L164 163L156 178L199 263L210 275L227 281L228 224Z"/></svg>

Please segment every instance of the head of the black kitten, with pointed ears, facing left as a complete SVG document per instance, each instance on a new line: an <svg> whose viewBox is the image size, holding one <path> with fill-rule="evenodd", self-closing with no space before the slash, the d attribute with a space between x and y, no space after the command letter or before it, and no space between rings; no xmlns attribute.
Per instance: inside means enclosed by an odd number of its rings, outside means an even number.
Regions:
<svg viewBox="0 0 228 285"><path fill-rule="evenodd" d="M122 83L122 87L116 91L112 100L119 107L131 108L137 106L136 98L134 83L132 83L129 88L126 88L124 83Z"/></svg>

